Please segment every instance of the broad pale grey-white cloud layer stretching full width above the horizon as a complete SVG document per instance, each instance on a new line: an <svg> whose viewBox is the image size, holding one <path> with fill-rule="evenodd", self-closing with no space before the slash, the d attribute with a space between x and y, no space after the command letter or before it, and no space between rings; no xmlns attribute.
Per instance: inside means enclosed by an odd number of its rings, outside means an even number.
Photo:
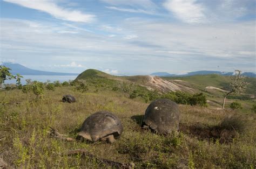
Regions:
<svg viewBox="0 0 256 169"><path fill-rule="evenodd" d="M247 72L255 69L254 20L212 26L136 18L112 24L124 28L114 38L107 35L116 32L56 33L70 31L62 23L22 19L1 19L1 23L1 58L25 60L30 65L47 60L45 64L64 69L69 67L60 65L76 61L76 65L90 68L114 67L122 73L145 74L159 69L170 73L214 70L217 66L220 71L232 71L233 67Z"/></svg>

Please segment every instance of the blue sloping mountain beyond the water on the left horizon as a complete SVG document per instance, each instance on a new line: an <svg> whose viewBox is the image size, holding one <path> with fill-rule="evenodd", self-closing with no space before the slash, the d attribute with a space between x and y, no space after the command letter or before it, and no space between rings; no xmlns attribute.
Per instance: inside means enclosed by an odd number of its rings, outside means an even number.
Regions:
<svg viewBox="0 0 256 169"><path fill-rule="evenodd" d="M12 74L21 74L21 75L58 75L58 76L66 76L66 75L78 75L77 73L59 73L59 72L46 72L46 71L38 71L34 69L27 68L20 64L13 64L11 62L3 62L1 65L9 67L11 69Z"/></svg>

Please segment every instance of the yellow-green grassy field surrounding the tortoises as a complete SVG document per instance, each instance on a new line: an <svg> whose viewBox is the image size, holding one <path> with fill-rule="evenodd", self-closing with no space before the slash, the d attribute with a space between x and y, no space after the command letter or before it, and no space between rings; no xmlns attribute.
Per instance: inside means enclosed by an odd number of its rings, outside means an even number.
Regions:
<svg viewBox="0 0 256 169"><path fill-rule="evenodd" d="M9 165L21 168L110 168L94 158L61 155L69 150L86 149L98 158L133 162L137 168L253 168L256 165L256 114L249 109L240 112L179 105L180 123L186 129L197 126L201 131L212 132L211 129L218 127L221 131L234 132L230 126L235 126L235 137L222 144L220 137L199 138L187 130L162 136L140 129L139 121L149 103L139 98L132 100L118 91L80 93L74 88L45 91L38 101L33 94L8 91L6 104L0 107L0 157ZM64 94L75 96L77 102L61 102ZM3 96L4 92L0 92L0 98ZM124 132L113 144L65 142L48 134L52 126L75 138L84 119L100 110L113 112L123 123Z"/></svg>

